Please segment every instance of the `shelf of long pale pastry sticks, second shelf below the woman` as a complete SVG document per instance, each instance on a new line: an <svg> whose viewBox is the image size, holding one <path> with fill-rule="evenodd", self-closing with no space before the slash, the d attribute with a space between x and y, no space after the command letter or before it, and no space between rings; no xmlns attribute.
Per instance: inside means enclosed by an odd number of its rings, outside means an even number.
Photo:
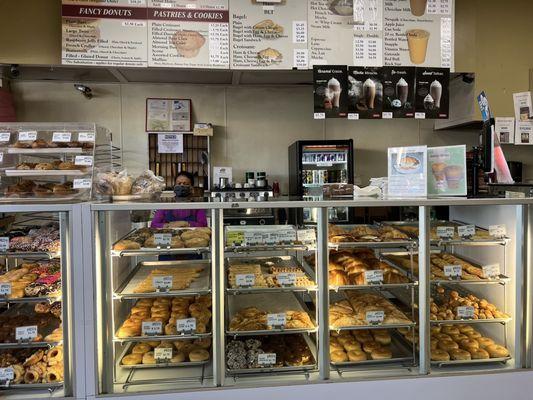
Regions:
<svg viewBox="0 0 533 400"><path fill-rule="evenodd" d="M143 261L137 264L115 299L177 297L211 293L211 262Z"/></svg>

